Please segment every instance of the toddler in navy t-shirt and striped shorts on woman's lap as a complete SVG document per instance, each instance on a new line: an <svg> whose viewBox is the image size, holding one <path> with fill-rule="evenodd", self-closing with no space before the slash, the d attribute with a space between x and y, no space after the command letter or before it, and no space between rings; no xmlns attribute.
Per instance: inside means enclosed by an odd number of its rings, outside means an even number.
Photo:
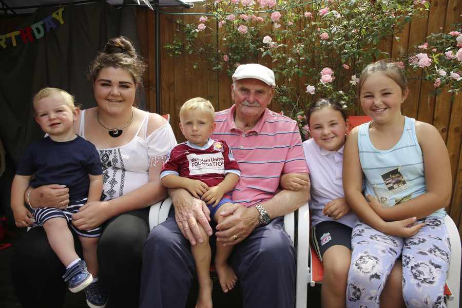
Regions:
<svg viewBox="0 0 462 308"><path fill-rule="evenodd" d="M96 278L101 227L79 230L70 224L72 214L78 213L84 203L101 198L103 177L98 151L92 143L74 133L73 123L80 109L74 106L72 95L61 89L44 88L35 95L33 105L35 121L48 137L31 144L17 167L11 186L15 223L18 227L43 226L51 248L66 266L63 278L69 290L75 293L85 289L88 305L102 308L106 305L106 296ZM30 213L24 206L24 193L29 185L38 187L54 183L69 188L67 208L33 208L30 204ZM79 235L86 263L75 252L69 226Z"/></svg>

